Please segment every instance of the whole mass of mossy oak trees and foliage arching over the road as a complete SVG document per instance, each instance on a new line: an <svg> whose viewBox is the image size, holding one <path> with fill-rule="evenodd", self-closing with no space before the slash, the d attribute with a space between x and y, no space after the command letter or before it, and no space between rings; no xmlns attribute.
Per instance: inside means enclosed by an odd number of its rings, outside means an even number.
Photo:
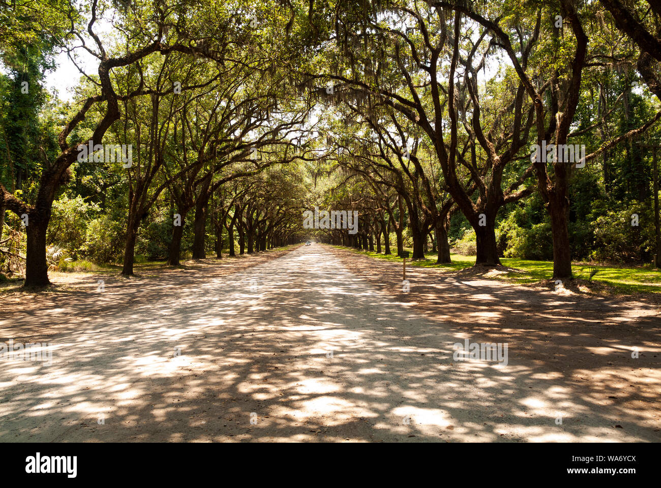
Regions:
<svg viewBox="0 0 661 488"><path fill-rule="evenodd" d="M642 0L0 0L1 270L44 286L67 259L128 276L136 257L391 253L391 236L438 263L553 259L557 279L572 259L649 262L660 16ZM63 56L70 102L45 88ZM307 228L315 208L357 211L356 232Z"/></svg>

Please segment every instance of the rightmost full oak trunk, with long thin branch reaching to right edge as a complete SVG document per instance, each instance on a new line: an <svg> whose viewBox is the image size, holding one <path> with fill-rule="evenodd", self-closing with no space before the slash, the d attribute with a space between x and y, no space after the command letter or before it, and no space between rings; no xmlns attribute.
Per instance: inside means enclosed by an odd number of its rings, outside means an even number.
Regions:
<svg viewBox="0 0 661 488"><path fill-rule="evenodd" d="M584 30L583 15L589 15L589 6L580 11L577 4L571 0L561 0L549 11L545 7L535 7L533 12L527 12L519 20L530 27L527 39L520 23L508 24L501 22L500 17L494 17L487 12L491 7L471 9L463 3L430 1L437 9L451 9L455 15L465 15L479 22L494 36L495 44L508 56L514 66L526 93L534 104L535 129L537 145L554 143L556 147L564 147L570 138L576 108L580 101L582 79L586 69L586 59L590 55L589 38ZM534 20L533 20L534 19ZM534 22L534 24L533 24ZM567 28L568 26L568 28ZM546 49L540 49L537 56L543 58L537 63L527 62L522 52L517 52L515 46L524 43L530 45L540 34L549 40ZM546 69L545 69L546 67ZM641 72L642 74L642 72ZM550 82L550 83L549 83ZM612 147L625 138L640 134L651 126L659 115L636 130L631 130L602 145L599 151L590 153L586 161L596 157L600 151ZM553 229L553 278L571 278L571 245L568 231L568 211L570 208L569 187L574 163L566 158L558 157L560 151L550 161L533 155L533 166L537 176L537 189L543 198Z"/></svg>

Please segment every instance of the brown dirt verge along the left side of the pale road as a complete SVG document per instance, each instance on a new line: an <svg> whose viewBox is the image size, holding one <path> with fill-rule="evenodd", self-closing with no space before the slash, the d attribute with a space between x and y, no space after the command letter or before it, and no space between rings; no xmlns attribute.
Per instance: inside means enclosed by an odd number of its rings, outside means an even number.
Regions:
<svg viewBox="0 0 661 488"><path fill-rule="evenodd" d="M180 286L194 286L200 281L225 280L237 270L282 257L292 249L274 249L261 253L184 261L181 266L137 267L135 276L118 272L51 273L52 286L45 290L15 288L0 294L3 315L0 317L0 343L8 339L22 342L44 340L48 334L77 331L90 319L114 317L127 307L153 304L167 296L176 296ZM121 270L120 266L116 266ZM102 281L102 283L100 283ZM231 283L227 283L231 286ZM53 319L44 327L44 317Z"/></svg>

